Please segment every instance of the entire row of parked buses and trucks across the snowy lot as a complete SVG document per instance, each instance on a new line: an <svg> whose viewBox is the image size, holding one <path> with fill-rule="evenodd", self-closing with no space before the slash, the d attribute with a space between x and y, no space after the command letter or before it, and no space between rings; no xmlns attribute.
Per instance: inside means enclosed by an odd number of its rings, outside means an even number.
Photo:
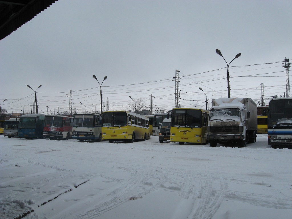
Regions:
<svg viewBox="0 0 292 219"><path fill-rule="evenodd" d="M267 121L268 144L274 148L291 146L292 98L274 98L263 110L260 116ZM150 118L153 119L153 130L150 129ZM245 147L246 143L256 142L258 121L257 106L252 99L217 98L212 100L210 110L174 108L167 114L148 117L128 111L75 114L74 117L26 114L20 119L6 120L4 136L109 140L112 143L148 140L151 132L156 135L158 130L161 143L167 140L180 145L185 142L210 143L211 147L236 143ZM265 121L263 132L266 132Z"/></svg>

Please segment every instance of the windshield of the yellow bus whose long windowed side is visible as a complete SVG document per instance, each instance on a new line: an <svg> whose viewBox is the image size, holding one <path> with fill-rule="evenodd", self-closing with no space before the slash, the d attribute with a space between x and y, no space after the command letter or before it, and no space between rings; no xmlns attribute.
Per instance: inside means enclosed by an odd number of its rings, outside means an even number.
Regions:
<svg viewBox="0 0 292 219"><path fill-rule="evenodd" d="M102 126L126 126L127 113L126 112L104 112L102 113Z"/></svg>

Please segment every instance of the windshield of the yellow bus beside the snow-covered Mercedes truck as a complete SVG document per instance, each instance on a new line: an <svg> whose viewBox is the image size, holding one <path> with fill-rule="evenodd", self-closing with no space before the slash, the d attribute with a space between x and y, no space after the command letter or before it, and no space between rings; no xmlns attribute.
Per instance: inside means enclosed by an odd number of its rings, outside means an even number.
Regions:
<svg viewBox="0 0 292 219"><path fill-rule="evenodd" d="M202 112L198 109L175 109L172 111L171 126L202 127Z"/></svg>

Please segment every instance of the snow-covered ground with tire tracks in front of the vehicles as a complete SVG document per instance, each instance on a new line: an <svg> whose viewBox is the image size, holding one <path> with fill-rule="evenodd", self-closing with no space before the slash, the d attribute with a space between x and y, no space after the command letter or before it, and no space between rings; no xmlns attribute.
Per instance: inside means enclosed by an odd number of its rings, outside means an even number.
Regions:
<svg viewBox="0 0 292 219"><path fill-rule="evenodd" d="M291 218L292 150L0 136L0 218Z"/></svg>

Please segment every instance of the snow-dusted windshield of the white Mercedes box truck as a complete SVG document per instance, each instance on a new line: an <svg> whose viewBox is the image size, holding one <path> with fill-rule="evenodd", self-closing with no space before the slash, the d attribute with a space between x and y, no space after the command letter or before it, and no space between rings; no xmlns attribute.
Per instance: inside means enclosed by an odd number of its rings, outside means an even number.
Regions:
<svg viewBox="0 0 292 219"><path fill-rule="evenodd" d="M211 109L210 121L240 121L240 109Z"/></svg>

